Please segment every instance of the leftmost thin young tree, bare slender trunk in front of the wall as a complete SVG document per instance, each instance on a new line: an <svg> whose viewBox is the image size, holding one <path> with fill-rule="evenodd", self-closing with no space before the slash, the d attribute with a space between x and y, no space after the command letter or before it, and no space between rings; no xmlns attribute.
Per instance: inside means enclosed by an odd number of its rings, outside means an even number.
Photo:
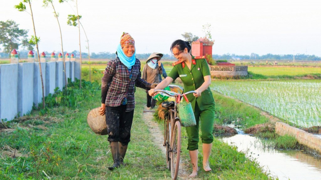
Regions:
<svg viewBox="0 0 321 180"><path fill-rule="evenodd" d="M43 86L43 78L42 78L42 71L41 71L41 63L40 63L40 55L39 55L39 48L38 48L38 43L40 41L40 38L37 37L36 35L36 28L35 28L35 22L33 20L33 14L32 14L32 8L31 8L31 0L22 0L22 2L20 2L18 5L15 5L14 7L18 10L18 11L26 11L26 5L24 5L24 3L29 4L30 7L30 15L31 15L31 19L32 19L32 26L33 26L33 33L34 36L31 36L30 39L30 43L36 45L37 48L37 53L38 53L38 62L39 62L39 70L40 70L40 79L41 79L41 88L42 88L42 108L45 109L45 90L44 90L44 86Z"/></svg>

